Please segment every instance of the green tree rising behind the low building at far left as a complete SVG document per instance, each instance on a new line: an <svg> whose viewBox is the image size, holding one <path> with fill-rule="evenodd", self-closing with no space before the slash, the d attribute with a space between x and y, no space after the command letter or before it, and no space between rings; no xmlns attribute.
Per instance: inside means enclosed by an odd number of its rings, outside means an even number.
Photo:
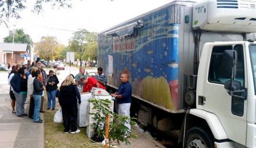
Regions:
<svg viewBox="0 0 256 148"><path fill-rule="evenodd" d="M12 43L13 35L6 36L3 38L4 43ZM27 43L28 50L30 50L30 44L32 44L32 39L28 34L25 34L23 29L16 29L14 33L14 43Z"/></svg>

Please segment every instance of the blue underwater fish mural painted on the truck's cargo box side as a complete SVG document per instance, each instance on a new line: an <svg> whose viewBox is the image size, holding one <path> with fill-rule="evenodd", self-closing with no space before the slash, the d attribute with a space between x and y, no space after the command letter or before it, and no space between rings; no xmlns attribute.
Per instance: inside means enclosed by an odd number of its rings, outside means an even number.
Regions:
<svg viewBox="0 0 256 148"><path fill-rule="evenodd" d="M170 8L145 16L144 26L128 36L99 34L98 59L107 75L107 55L113 56L108 83L120 84L120 74L130 74L132 91L167 109L181 108L178 99L178 29L170 24ZM125 24L124 24L125 25Z"/></svg>

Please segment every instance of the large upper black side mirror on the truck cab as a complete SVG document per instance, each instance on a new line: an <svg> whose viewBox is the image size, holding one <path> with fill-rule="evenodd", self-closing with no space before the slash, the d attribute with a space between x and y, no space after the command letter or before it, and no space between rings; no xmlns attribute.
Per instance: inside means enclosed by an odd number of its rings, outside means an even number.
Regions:
<svg viewBox="0 0 256 148"><path fill-rule="evenodd" d="M237 51L225 50L222 56L222 65L222 77L233 80L237 65Z"/></svg>

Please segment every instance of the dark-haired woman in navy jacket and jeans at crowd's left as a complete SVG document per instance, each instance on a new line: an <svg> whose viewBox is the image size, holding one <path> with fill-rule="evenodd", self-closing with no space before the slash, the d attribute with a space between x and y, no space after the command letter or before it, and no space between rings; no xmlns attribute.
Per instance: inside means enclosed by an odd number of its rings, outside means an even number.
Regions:
<svg viewBox="0 0 256 148"><path fill-rule="evenodd" d="M24 104L27 98L27 68L21 67L19 68L18 73L16 73L12 80L11 86L13 87L13 93L16 98L16 114L18 117L28 116L25 114Z"/></svg>

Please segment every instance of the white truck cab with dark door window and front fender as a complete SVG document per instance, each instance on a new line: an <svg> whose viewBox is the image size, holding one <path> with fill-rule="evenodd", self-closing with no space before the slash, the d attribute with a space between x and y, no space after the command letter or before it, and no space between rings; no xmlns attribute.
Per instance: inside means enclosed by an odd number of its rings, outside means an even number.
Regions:
<svg viewBox="0 0 256 148"><path fill-rule="evenodd" d="M255 64L255 41L214 42L203 47L196 109L190 113L205 119L214 138L226 139L230 147L235 143L255 146Z"/></svg>

